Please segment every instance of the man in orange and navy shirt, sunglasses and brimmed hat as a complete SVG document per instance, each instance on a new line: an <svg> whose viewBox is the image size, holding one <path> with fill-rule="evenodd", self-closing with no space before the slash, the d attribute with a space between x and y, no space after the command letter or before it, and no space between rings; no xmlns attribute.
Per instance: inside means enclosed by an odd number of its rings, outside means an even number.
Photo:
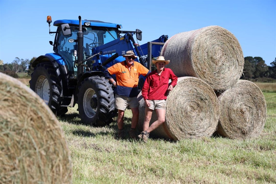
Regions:
<svg viewBox="0 0 276 184"><path fill-rule="evenodd" d="M133 51L127 51L123 55L125 61L116 63L105 70L105 77L116 87L114 90L115 108L118 109L118 138L124 138L124 111L130 108L132 111L130 138L136 138L136 125L139 118L138 81L139 76L146 76L150 71L139 62L134 61L137 56ZM116 75L116 81L111 75Z"/></svg>

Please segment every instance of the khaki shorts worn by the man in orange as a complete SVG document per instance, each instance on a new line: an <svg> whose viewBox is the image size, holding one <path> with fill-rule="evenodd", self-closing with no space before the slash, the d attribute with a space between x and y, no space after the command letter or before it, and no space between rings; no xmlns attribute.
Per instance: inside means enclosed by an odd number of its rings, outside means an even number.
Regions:
<svg viewBox="0 0 276 184"><path fill-rule="evenodd" d="M132 109L139 107L139 102L137 96L135 97L127 97L121 95L115 95L115 108L125 111L126 108Z"/></svg>

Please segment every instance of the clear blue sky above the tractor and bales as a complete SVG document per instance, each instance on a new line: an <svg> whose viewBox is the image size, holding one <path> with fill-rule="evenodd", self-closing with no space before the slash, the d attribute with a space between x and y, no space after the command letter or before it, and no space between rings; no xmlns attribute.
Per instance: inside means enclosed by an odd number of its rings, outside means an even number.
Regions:
<svg viewBox="0 0 276 184"><path fill-rule="evenodd" d="M52 52L47 15L59 19L101 20L123 29L142 30L139 44L161 35L218 25L238 39L244 57L262 57L270 65L276 57L276 0L194 1L73 1L0 0L0 59L31 59ZM56 27L51 24L51 31Z"/></svg>

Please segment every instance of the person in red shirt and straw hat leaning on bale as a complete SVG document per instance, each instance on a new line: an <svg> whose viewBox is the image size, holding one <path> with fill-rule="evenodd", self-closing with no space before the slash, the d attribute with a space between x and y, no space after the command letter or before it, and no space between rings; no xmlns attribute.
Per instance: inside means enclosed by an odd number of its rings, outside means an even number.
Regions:
<svg viewBox="0 0 276 184"><path fill-rule="evenodd" d="M152 63L155 64L157 69L148 75L142 88L142 96L145 100L145 119L143 131L138 137L145 142L148 140L149 133L165 122L167 95L177 84L176 75L174 75L171 69L165 68L165 65L169 64L169 62L170 61L165 60L163 56L159 56L156 60L152 60ZM170 84L169 79L171 79ZM154 109L157 120L149 127L152 111Z"/></svg>

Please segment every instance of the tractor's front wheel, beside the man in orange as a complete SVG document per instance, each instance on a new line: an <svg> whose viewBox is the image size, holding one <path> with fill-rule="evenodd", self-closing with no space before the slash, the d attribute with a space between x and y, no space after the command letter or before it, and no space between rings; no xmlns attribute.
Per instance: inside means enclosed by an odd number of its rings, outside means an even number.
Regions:
<svg viewBox="0 0 276 184"><path fill-rule="evenodd" d="M109 125L117 110L112 84L100 76L85 78L79 87L78 111L83 123L102 127Z"/></svg>

